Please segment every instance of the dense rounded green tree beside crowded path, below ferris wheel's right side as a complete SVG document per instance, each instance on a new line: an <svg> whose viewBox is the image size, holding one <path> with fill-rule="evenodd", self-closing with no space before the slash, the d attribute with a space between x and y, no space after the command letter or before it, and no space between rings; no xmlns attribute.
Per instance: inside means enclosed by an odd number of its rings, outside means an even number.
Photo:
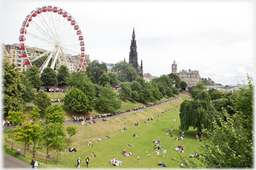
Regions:
<svg viewBox="0 0 256 170"><path fill-rule="evenodd" d="M89 106L87 96L81 90L73 87L65 94L63 101L73 112L84 112Z"/></svg>

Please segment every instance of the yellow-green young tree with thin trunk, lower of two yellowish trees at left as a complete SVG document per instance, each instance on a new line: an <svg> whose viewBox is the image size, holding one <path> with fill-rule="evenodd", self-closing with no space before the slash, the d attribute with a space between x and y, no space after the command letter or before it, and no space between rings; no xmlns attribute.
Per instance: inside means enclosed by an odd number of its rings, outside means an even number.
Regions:
<svg viewBox="0 0 256 170"><path fill-rule="evenodd" d="M31 140L31 134L33 134L32 123L24 123L23 126L13 129L15 138L14 140L18 143L25 142L24 147L24 156L25 156L25 148L28 142Z"/></svg>

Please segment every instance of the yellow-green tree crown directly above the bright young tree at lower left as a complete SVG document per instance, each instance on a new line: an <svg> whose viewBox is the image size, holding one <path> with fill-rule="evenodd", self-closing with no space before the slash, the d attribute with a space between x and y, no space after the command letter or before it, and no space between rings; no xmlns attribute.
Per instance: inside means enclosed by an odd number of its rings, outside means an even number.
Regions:
<svg viewBox="0 0 256 170"><path fill-rule="evenodd" d="M65 122L65 112L59 104L52 104L46 108L46 123L58 123L60 126Z"/></svg>

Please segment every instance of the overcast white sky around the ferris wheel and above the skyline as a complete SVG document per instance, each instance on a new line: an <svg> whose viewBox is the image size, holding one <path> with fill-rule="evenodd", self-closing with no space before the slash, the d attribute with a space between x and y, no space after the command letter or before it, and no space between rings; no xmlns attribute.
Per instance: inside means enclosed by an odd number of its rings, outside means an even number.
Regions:
<svg viewBox="0 0 256 170"><path fill-rule="evenodd" d="M1 40L20 43L26 15L41 6L59 6L78 22L91 61L129 61L133 27L138 63L144 73L199 70L215 83L237 84L254 76L253 1L5 1Z"/></svg>

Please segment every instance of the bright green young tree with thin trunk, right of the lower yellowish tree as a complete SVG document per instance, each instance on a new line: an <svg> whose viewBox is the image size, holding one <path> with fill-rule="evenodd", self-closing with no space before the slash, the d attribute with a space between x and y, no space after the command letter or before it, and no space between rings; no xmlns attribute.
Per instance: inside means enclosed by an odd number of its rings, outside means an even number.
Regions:
<svg viewBox="0 0 256 170"><path fill-rule="evenodd" d="M57 136L65 136L62 131L62 126L58 123L49 123L43 127L43 130L40 132L41 145L46 146L46 164L47 164L47 153L49 148L55 145Z"/></svg>

